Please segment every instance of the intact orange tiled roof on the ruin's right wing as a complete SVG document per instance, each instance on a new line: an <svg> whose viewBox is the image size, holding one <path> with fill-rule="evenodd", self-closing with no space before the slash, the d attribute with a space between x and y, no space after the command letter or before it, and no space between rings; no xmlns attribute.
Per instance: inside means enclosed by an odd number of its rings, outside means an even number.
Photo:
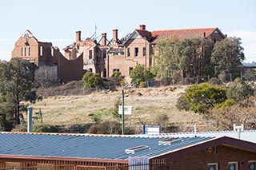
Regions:
<svg viewBox="0 0 256 170"><path fill-rule="evenodd" d="M206 38L210 36L217 30L217 27L213 28L199 28L199 29L181 29L181 30L155 30L152 31L153 38L170 38L172 36L176 36L178 39L185 39L185 38L198 38L203 36L205 33Z"/></svg>

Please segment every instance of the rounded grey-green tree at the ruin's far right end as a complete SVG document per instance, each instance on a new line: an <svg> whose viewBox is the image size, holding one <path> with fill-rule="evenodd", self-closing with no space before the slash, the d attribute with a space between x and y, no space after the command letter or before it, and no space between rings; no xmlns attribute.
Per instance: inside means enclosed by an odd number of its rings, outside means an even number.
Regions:
<svg viewBox="0 0 256 170"><path fill-rule="evenodd" d="M211 64L215 67L215 73L224 70L234 73L245 59L241 38L225 38L222 42L216 42L211 55Z"/></svg>

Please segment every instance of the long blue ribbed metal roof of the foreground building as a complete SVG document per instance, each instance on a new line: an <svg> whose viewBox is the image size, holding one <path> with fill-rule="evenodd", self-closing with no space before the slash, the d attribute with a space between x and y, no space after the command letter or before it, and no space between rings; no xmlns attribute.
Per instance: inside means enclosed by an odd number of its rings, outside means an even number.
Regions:
<svg viewBox="0 0 256 170"><path fill-rule="evenodd" d="M129 156L158 156L178 148L198 144L212 137L183 137L170 145L158 141L170 137L89 136L63 134L0 133L0 155L60 156L126 160ZM149 148L127 154L127 148L146 145Z"/></svg>

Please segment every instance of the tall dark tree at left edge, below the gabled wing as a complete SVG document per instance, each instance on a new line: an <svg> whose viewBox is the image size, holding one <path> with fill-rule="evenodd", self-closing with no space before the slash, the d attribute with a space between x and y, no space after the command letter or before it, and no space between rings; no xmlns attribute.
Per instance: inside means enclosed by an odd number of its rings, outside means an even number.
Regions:
<svg viewBox="0 0 256 170"><path fill-rule="evenodd" d="M0 93L9 114L14 114L16 124L20 124L21 101L34 102L34 65L19 57L0 65Z"/></svg>

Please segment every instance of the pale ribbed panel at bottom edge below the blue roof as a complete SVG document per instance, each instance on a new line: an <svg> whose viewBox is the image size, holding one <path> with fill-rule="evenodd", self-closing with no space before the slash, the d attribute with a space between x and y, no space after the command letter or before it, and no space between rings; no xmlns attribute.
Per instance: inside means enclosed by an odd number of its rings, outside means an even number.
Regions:
<svg viewBox="0 0 256 170"><path fill-rule="evenodd" d="M128 158L129 170L150 170L149 156L135 156Z"/></svg>

